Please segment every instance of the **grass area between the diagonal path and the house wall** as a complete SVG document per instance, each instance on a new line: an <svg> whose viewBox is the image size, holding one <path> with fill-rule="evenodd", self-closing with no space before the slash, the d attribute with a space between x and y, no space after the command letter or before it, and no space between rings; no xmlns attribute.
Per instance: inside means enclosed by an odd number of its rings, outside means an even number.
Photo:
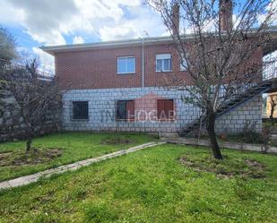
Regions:
<svg viewBox="0 0 277 223"><path fill-rule="evenodd" d="M120 141L118 141L118 138ZM0 182L17 176L30 175L50 167L58 167L82 159L99 157L109 152L126 149L150 141L153 141L151 136L139 133L56 133L34 140L32 146L39 150L45 152L49 148L61 150L61 156L41 161L40 163L34 163L34 161L39 160L35 156L26 158L25 142L0 143L0 154L13 152L12 157L9 157L8 160L3 160L5 162L4 165L0 165ZM27 161L31 159L32 163L27 162L25 165L12 165L18 162L18 159Z"/></svg>

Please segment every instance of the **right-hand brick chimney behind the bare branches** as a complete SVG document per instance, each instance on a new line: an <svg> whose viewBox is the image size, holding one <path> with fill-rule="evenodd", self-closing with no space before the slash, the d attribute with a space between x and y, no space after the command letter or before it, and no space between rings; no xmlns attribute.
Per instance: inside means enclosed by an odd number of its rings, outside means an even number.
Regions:
<svg viewBox="0 0 277 223"><path fill-rule="evenodd" d="M220 0L220 26L222 31L227 31L232 28L232 15L232 0Z"/></svg>

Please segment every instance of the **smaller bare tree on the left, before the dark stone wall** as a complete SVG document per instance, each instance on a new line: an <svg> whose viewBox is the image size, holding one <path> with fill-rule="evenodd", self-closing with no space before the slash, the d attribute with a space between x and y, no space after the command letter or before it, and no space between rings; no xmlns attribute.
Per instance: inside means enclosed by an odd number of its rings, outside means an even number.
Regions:
<svg viewBox="0 0 277 223"><path fill-rule="evenodd" d="M40 76L36 60L26 63L25 67L7 70L2 79L16 103L13 103L13 118L22 118L26 133L26 151L30 151L33 137L38 135L61 108L61 92L55 80ZM51 112L49 112L51 111Z"/></svg>

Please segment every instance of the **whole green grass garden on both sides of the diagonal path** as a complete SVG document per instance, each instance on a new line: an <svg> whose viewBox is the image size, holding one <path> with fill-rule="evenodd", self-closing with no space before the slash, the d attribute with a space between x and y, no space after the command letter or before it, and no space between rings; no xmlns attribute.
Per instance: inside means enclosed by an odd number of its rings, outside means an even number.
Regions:
<svg viewBox="0 0 277 223"><path fill-rule="evenodd" d="M135 133L57 133L33 147L62 150L43 163L1 167L1 180L155 141ZM24 151L23 142L0 144ZM164 144L38 183L0 191L1 222L274 222L277 157Z"/></svg>

